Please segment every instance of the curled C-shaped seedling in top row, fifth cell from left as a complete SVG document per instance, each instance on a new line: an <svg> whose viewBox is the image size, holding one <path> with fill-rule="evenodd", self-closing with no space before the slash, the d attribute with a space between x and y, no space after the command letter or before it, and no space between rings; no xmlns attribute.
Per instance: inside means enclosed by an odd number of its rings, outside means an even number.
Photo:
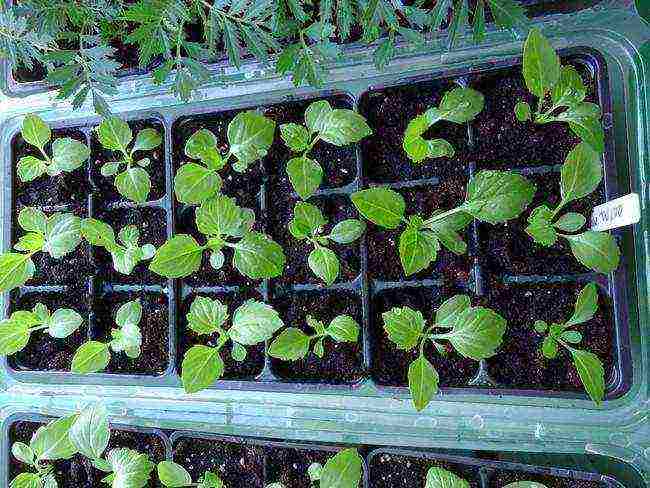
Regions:
<svg viewBox="0 0 650 488"><path fill-rule="evenodd" d="M420 164L428 158L451 158L454 147L444 139L424 139L423 135L431 126L441 120L464 124L476 117L485 100L483 95L471 88L454 88L442 97L439 107L431 107L424 114L409 122L404 132L402 146L414 164Z"/></svg>

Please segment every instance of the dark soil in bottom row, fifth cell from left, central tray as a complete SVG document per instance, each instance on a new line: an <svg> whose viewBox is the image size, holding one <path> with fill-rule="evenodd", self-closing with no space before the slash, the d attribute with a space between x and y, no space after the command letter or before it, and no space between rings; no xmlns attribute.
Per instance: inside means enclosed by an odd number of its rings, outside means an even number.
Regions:
<svg viewBox="0 0 650 488"><path fill-rule="evenodd" d="M457 288L401 287L386 289L374 294L370 304L370 374L380 385L406 386L408 367L418 356L418 348L410 351L398 349L384 331L382 313L393 307L411 307L422 312L427 325L438 306L447 298L465 293ZM446 343L445 343L446 344ZM425 356L440 376L441 387L465 387L476 375L479 363L456 353L447 345L447 355L442 356L431 342L424 349Z"/></svg>

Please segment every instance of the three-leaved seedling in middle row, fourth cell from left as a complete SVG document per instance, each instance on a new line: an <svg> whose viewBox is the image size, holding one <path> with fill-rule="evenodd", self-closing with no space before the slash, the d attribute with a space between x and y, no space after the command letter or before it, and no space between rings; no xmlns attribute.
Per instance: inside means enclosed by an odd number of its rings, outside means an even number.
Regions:
<svg viewBox="0 0 650 488"><path fill-rule="evenodd" d="M365 231L366 224L358 219L347 219L324 234L326 224L327 219L318 207L299 202L293 209L289 232L296 239L307 240L314 247L307 257L307 264L316 276L331 286L339 276L340 263L336 253L327 246L330 241L338 244L356 241Z"/></svg>

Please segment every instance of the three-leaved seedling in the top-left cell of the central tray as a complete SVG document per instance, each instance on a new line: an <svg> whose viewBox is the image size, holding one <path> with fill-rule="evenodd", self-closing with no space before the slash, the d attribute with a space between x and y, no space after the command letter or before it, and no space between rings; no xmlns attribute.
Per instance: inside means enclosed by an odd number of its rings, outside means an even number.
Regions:
<svg viewBox="0 0 650 488"><path fill-rule="evenodd" d="M27 115L23 120L20 134L28 144L41 153L41 157L23 156L18 161L16 172L20 181L32 181L45 174L56 176L70 173L79 168L90 157L86 144L70 137L61 137L52 142L52 154L45 150L52 140L52 131L38 115Z"/></svg>

